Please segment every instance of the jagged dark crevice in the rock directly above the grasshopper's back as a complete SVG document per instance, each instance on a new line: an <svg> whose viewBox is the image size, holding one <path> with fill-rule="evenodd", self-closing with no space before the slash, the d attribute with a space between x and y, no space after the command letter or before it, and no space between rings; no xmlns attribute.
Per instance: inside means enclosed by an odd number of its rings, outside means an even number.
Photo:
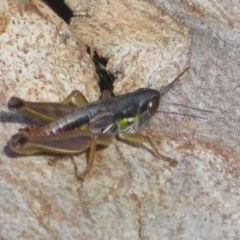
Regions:
<svg viewBox="0 0 240 240"><path fill-rule="evenodd" d="M90 47L87 47L87 52L88 54L91 55ZM116 77L106 68L108 59L100 57L98 53L94 51L92 60L99 78L99 87L101 93L104 91L109 91L113 95L113 82L116 79Z"/></svg>

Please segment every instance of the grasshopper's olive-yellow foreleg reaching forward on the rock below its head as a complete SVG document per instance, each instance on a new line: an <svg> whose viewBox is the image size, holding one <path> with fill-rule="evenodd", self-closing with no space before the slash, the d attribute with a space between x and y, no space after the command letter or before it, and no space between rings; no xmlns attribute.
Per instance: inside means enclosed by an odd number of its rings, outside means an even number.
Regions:
<svg viewBox="0 0 240 240"><path fill-rule="evenodd" d="M170 166L175 167L177 165L177 161L165 157L162 154L160 154L156 148L156 146L154 145L154 143L152 142L150 137L146 137L143 136L141 134L138 133L121 133L118 135L121 139L129 141L129 142L133 142L133 143L147 143L150 145L151 149L153 150L155 156L157 158L163 159L164 161L167 161L169 163Z"/></svg>

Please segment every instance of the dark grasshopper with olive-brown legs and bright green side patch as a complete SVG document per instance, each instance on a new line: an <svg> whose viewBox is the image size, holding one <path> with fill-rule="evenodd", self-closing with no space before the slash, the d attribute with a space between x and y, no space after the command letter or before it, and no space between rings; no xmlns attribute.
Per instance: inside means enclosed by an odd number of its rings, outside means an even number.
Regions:
<svg viewBox="0 0 240 240"><path fill-rule="evenodd" d="M87 167L80 179L93 168L96 145L108 146L116 136L133 143L147 143L156 157L175 165L176 161L161 155L152 140L138 132L156 114L160 97L188 69L160 91L140 88L91 103L78 90L74 90L62 103L28 102L11 97L9 110L37 117L46 125L19 129L9 140L9 147L13 152L24 155L78 154L89 149Z"/></svg>

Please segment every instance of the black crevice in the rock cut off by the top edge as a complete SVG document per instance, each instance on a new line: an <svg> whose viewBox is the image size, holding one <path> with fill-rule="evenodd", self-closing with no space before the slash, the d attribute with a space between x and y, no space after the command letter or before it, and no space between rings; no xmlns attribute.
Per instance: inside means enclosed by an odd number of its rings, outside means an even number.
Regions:
<svg viewBox="0 0 240 240"><path fill-rule="evenodd" d="M67 24L73 17L73 11L65 4L64 0L42 0Z"/></svg>

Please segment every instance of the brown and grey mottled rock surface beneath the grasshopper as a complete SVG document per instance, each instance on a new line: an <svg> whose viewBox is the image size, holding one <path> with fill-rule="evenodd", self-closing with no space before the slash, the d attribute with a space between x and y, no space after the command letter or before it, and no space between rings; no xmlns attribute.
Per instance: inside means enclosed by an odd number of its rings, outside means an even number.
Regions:
<svg viewBox="0 0 240 240"><path fill-rule="evenodd" d="M239 238L237 3L232 10L212 0L66 3L74 13L70 25L41 1L0 3L0 236ZM56 166L49 156L12 157L7 141L29 121L7 110L12 95L62 101L78 89L89 101L99 98L86 45L109 59L115 94L160 89L190 66L142 131L177 167L147 146L116 140L97 152L84 183L75 179L71 157ZM83 171L86 155L72 159Z"/></svg>

